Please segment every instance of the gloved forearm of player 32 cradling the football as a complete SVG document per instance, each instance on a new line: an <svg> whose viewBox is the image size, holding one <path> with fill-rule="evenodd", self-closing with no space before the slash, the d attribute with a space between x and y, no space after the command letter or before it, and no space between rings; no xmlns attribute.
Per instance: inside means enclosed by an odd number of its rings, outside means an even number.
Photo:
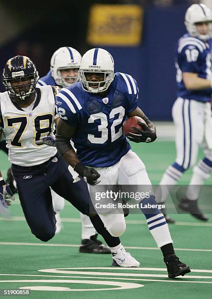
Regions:
<svg viewBox="0 0 212 299"><path fill-rule="evenodd" d="M148 119L145 113L139 108L136 107L132 112L128 114L128 117L139 116L143 118L147 126L141 122L138 124L142 127L142 130L139 128L132 127L135 133L129 133L127 138L133 142L153 142L157 138L155 125Z"/></svg>

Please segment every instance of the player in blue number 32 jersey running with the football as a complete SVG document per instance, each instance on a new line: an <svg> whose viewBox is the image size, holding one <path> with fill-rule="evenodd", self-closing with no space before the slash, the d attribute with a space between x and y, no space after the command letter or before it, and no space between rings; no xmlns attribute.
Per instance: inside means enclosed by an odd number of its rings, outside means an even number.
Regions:
<svg viewBox="0 0 212 299"><path fill-rule="evenodd" d="M133 127L135 132L128 135L129 139L134 142L156 139L154 124L138 107L136 81L124 73L114 74L113 58L101 48L85 53L79 74L81 82L62 88L56 98L60 115L56 133L59 152L85 179L92 192L98 188L96 184L151 188L145 165L130 149L122 129L126 117L137 115L147 125L140 123L143 130ZM70 144L71 138L77 153ZM149 210L146 204L150 205ZM147 218L151 235L162 250L169 277L185 275L190 268L175 255L168 225L155 204L155 197L150 194L139 206ZM117 214L108 211L99 213L107 231L113 236L122 235L126 229L123 211ZM126 257L121 243L110 249L113 265Z"/></svg>

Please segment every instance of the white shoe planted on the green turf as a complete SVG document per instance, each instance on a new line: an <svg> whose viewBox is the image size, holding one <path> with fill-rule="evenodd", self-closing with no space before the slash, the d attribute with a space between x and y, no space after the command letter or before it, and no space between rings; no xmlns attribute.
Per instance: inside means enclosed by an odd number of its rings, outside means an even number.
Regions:
<svg viewBox="0 0 212 299"><path fill-rule="evenodd" d="M112 253L113 262L112 266L118 267L139 267L140 263L134 257L126 252L125 248L122 246L116 253Z"/></svg>

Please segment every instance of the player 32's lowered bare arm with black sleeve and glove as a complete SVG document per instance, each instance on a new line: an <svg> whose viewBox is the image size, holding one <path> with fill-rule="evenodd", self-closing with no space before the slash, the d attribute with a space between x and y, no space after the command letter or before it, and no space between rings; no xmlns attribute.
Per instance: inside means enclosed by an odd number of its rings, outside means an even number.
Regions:
<svg viewBox="0 0 212 299"><path fill-rule="evenodd" d="M72 166L88 184L96 185L100 182L100 180L98 180L100 174L92 168L85 167L70 144L70 139L73 137L75 130L76 128L67 125L59 119L56 132L56 147L64 160Z"/></svg>

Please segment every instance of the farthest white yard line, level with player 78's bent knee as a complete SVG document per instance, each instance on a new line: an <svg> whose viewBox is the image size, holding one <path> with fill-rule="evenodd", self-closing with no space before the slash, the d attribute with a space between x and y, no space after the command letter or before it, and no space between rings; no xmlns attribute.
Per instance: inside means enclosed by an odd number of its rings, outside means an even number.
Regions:
<svg viewBox="0 0 212 299"><path fill-rule="evenodd" d="M62 220L62 222L79 222L79 223L82 222L82 220L80 218L61 218L61 220ZM12 217L8 217L8 218L0 217L0 221L26 221L26 220L23 216L12 216ZM125 220L125 221L127 224L145 224L145 225L147 225L147 222L145 220ZM201 223L201 222L176 221L174 225L212 227L212 223Z"/></svg>

